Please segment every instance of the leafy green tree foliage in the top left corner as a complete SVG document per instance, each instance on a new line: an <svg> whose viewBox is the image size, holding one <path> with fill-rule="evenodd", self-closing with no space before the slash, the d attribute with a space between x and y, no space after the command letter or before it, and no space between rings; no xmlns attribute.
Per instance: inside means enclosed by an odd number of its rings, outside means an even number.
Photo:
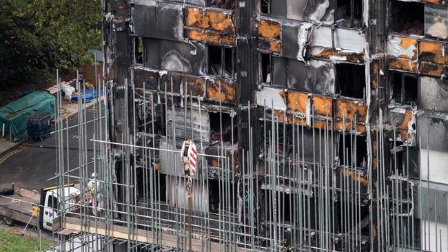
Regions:
<svg viewBox="0 0 448 252"><path fill-rule="evenodd" d="M50 78L101 49L101 0L0 0L0 87Z"/></svg>

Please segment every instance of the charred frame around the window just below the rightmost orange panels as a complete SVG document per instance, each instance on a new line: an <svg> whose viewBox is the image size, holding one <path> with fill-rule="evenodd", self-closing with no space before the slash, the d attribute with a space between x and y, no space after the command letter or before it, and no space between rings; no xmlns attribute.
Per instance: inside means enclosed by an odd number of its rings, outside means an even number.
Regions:
<svg viewBox="0 0 448 252"><path fill-rule="evenodd" d="M399 74L401 76L401 83L400 83L400 101L397 102L396 100L396 83L395 83L395 75ZM406 78L414 78L416 79L416 94L415 94L415 101L406 101L406 85L409 85L409 83L405 82ZM391 71L389 74L389 87L391 88L391 96L390 101L397 104L397 105L403 105L403 106L409 106L409 105L416 105L418 104L418 88L420 85L420 78L416 74L411 74L407 72L400 72L400 71ZM411 104L409 104L411 103Z"/></svg>

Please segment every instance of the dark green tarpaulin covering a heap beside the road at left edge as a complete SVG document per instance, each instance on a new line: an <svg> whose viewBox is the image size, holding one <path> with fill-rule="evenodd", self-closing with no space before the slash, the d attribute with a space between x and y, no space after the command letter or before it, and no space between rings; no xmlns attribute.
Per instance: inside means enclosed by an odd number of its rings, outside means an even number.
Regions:
<svg viewBox="0 0 448 252"><path fill-rule="evenodd" d="M8 103L5 107L0 107L0 130L3 129L4 123L5 137L12 136L14 142L20 140L26 135L26 116L35 111L51 113L54 116L54 96L46 91L35 91Z"/></svg>

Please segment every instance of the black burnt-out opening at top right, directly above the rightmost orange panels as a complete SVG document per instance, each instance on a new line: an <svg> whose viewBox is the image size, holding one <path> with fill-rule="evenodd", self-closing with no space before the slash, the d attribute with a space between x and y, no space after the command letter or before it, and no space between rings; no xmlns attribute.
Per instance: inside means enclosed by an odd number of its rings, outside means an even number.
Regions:
<svg viewBox="0 0 448 252"><path fill-rule="evenodd" d="M390 1L389 25L392 32L399 34L424 34L425 6L411 1Z"/></svg>

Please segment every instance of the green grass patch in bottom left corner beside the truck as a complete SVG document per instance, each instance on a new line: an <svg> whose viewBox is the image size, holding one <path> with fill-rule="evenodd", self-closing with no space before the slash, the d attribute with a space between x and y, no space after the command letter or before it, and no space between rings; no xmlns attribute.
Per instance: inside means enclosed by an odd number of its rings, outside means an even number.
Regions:
<svg viewBox="0 0 448 252"><path fill-rule="evenodd" d="M48 249L49 242L42 240L42 249ZM39 239L31 236L15 235L0 230L0 252L28 252L39 251Z"/></svg>

